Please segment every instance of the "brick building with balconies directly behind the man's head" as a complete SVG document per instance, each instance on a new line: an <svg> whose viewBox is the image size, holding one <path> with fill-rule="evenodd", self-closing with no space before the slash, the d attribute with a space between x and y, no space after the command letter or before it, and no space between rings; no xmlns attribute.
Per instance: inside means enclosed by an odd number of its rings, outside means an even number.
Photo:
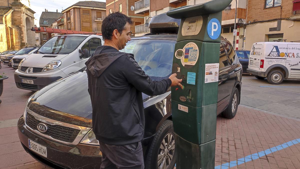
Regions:
<svg viewBox="0 0 300 169"><path fill-rule="evenodd" d="M146 0L146 1L149 2L149 0ZM106 14L107 15L112 12L119 11L122 14L125 14L132 18L132 20L134 21L134 24L131 26L131 32L132 32L131 34L132 35L136 34L135 26L144 24L144 21L145 21L144 16L147 15L146 14L147 12L145 12L145 14L143 12L137 14L134 10L132 11L131 6L135 6L134 2L135 2L134 0L107 0L106 1Z"/></svg>

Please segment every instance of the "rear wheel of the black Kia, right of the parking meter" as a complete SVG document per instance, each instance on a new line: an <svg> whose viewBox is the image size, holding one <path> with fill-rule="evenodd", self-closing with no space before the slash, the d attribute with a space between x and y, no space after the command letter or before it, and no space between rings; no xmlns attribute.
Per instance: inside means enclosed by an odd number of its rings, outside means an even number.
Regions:
<svg viewBox="0 0 300 169"><path fill-rule="evenodd" d="M234 118L234 116L238 110L239 99L240 99L240 97L239 97L238 89L234 88L234 91L230 98L228 107L222 112L223 117Z"/></svg>

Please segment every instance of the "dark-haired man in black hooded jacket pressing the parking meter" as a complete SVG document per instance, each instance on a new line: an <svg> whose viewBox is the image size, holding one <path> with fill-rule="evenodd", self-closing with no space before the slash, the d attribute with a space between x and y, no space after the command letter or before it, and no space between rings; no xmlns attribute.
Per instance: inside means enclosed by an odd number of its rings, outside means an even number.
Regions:
<svg viewBox="0 0 300 169"><path fill-rule="evenodd" d="M102 152L101 169L143 169L145 117L142 92L164 94L170 86L182 85L176 74L152 81L134 60L119 52L130 41L131 18L119 12L102 22L105 40L85 63L93 109L93 132Z"/></svg>

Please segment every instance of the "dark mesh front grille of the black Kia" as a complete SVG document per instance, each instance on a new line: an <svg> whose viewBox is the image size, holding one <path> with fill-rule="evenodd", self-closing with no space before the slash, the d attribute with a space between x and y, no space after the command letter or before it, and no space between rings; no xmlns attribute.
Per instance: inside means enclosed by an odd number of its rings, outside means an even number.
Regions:
<svg viewBox="0 0 300 169"><path fill-rule="evenodd" d="M37 120L33 115L26 113L26 124L34 129L38 130L37 126L41 123L41 121ZM60 125L50 125L47 124L48 130L43 133L48 136L51 136L54 139L65 141L68 143L72 143L77 135L79 134L80 130L68 128Z"/></svg>

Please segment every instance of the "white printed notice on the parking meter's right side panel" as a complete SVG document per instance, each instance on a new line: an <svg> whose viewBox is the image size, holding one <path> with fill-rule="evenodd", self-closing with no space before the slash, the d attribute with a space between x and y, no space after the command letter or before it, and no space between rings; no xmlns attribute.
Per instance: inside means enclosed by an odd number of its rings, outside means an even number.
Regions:
<svg viewBox="0 0 300 169"><path fill-rule="evenodd" d="M205 83L219 80L219 63L205 64Z"/></svg>

